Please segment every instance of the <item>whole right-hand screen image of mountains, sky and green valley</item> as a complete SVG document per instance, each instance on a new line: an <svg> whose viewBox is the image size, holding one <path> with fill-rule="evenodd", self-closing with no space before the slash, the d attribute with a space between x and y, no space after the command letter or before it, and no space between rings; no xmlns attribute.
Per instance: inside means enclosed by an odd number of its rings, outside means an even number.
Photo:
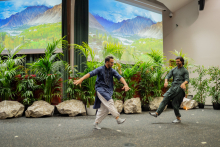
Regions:
<svg viewBox="0 0 220 147"><path fill-rule="evenodd" d="M89 45L96 60L115 45L124 50L117 60L147 61L151 49L163 50L162 15L115 0L89 0Z"/></svg>

